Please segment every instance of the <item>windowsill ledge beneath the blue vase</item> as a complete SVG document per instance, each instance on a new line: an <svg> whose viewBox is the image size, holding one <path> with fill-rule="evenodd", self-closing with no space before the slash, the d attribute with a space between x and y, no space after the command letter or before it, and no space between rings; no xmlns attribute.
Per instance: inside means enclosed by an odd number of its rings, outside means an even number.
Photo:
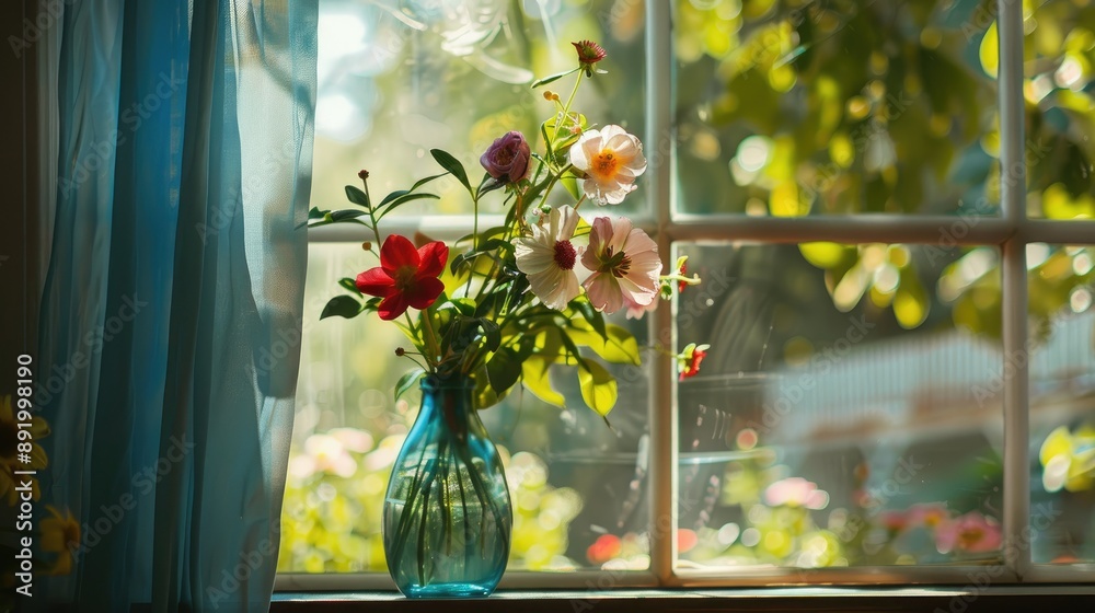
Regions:
<svg viewBox="0 0 1095 613"><path fill-rule="evenodd" d="M422 611L436 600L408 600L395 592L278 592L270 613L311 611ZM754 588L614 591L499 590L491 598L445 601L445 611L534 613L636 613L638 611L1092 611L1095 586Z"/></svg>

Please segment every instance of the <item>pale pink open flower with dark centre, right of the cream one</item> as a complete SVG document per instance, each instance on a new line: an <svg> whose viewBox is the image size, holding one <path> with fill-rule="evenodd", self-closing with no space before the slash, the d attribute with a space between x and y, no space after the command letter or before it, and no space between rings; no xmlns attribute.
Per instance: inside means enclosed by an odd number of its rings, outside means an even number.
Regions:
<svg viewBox="0 0 1095 613"><path fill-rule="evenodd" d="M658 297L661 259L658 245L631 220L598 217L589 232L581 264L592 275L583 284L589 302L606 313L625 304L646 307Z"/></svg>

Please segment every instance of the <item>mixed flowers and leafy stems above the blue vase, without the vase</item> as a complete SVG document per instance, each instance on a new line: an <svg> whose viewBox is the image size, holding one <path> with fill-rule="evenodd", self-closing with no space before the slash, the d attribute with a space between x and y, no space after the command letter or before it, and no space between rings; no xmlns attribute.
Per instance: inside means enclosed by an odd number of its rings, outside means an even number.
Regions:
<svg viewBox="0 0 1095 613"><path fill-rule="evenodd" d="M309 227L357 223L372 231L376 242L364 247L380 265L356 279L342 279L351 296L332 299L321 317L376 312L400 326L413 348L400 347L395 354L416 368L400 380L396 396L429 373L472 378L477 408L496 404L518 383L562 406L549 370L567 365L577 369L585 403L606 416L616 401L615 380L581 348L606 362L637 366L641 360L635 338L606 323L604 315L626 310L629 317L641 317L657 307L659 297L671 297L673 288L700 282L685 276L683 258L662 274L657 244L631 220L597 215L598 209L590 211L590 220L579 215L587 201L599 208L622 203L636 189L647 163L634 135L616 125L590 126L572 108L583 80L603 73L597 65L606 57L596 43L573 45L577 67L532 84L575 77L565 102L550 90L543 94L552 112L540 126L542 152L533 152L521 132L510 131L483 152L485 172L472 182L453 155L433 149L445 172L378 201L369 192L369 173L361 171L362 187L346 187L356 208L309 212ZM475 231L451 246L420 235L414 242L397 234L381 241L384 217L406 203L438 198L420 189L447 175L466 189ZM573 204L553 204L558 186ZM491 193L503 197L505 223L481 229L480 205ZM412 309L416 316L408 313ZM682 375L695 373L706 346L688 349L676 355Z"/></svg>

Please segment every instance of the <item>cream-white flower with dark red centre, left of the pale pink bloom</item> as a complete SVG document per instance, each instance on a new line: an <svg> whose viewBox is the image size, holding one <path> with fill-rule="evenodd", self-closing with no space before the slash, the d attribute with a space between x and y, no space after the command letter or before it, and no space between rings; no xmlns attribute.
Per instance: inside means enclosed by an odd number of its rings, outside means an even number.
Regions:
<svg viewBox="0 0 1095 613"><path fill-rule="evenodd" d="M578 251L570 244L578 225L574 207L552 209L540 223L532 227L531 236L514 240L517 268L529 276L532 293L548 307L562 311L581 293L574 265Z"/></svg>

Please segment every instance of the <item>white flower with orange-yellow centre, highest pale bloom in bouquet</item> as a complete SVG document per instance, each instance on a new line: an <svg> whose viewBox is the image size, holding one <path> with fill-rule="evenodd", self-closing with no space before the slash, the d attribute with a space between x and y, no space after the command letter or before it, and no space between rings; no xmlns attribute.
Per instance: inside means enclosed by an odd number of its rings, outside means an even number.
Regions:
<svg viewBox="0 0 1095 613"><path fill-rule="evenodd" d="M581 187L600 205L619 205L635 189L635 177L646 172L638 138L620 126L586 130L570 147L570 163L586 173Z"/></svg>

